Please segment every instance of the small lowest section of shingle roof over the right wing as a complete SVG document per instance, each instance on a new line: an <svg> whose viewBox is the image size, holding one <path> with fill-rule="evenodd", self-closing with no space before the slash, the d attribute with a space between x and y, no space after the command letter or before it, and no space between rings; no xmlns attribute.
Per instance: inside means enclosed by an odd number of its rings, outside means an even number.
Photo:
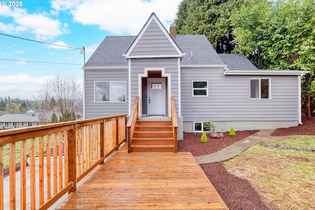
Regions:
<svg viewBox="0 0 315 210"><path fill-rule="evenodd" d="M255 70L256 66L244 54L218 54L229 70Z"/></svg>

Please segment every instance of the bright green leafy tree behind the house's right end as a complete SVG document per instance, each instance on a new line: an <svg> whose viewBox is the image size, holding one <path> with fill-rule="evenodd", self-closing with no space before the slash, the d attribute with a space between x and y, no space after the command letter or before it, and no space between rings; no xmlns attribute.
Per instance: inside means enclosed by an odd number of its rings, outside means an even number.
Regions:
<svg viewBox="0 0 315 210"><path fill-rule="evenodd" d="M314 0L252 0L232 14L231 23L234 52L261 69L310 71L302 79L302 90L315 101Z"/></svg>

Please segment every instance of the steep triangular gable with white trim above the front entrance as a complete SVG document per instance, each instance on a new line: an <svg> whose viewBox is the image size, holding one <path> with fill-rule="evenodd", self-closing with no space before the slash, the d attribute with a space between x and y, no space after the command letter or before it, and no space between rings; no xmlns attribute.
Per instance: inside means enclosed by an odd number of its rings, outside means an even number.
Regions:
<svg viewBox="0 0 315 210"><path fill-rule="evenodd" d="M126 59L183 58L184 54L156 14L152 13L125 56Z"/></svg>

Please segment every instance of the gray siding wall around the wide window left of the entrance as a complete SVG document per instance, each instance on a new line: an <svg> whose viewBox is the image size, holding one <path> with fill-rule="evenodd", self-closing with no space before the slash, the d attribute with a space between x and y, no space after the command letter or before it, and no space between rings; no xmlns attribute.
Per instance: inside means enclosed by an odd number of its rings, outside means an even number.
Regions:
<svg viewBox="0 0 315 210"><path fill-rule="evenodd" d="M85 70L85 118L128 114L128 70ZM95 81L126 81L126 102L95 102Z"/></svg>

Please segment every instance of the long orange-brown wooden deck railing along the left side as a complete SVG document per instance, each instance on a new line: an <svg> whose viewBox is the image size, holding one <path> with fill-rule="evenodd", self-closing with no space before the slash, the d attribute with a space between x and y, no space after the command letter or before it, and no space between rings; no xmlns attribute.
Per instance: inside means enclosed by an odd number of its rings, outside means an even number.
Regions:
<svg viewBox="0 0 315 210"><path fill-rule="evenodd" d="M126 115L0 131L0 210L15 210L19 205L21 210L47 209L75 191L77 182L124 141ZM20 159L20 175L16 159ZM5 178L4 160L9 160ZM8 188L4 187L7 178Z"/></svg>

